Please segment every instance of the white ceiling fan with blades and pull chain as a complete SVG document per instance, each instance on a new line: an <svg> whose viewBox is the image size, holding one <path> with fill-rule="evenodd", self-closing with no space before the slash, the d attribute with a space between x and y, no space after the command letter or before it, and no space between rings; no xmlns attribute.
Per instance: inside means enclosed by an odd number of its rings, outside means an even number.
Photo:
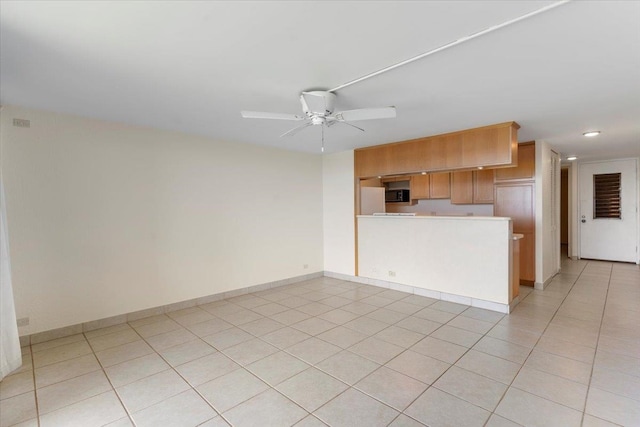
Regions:
<svg viewBox="0 0 640 427"><path fill-rule="evenodd" d="M292 120L303 121L299 126L283 133L282 136L292 136L309 126L320 125L323 127L333 126L336 123L349 125L353 128L364 129L355 126L349 122L359 120L388 119L396 116L395 107L383 108L361 108L358 110L334 111L336 95L329 91L314 90L310 92L302 92L300 94L300 104L304 115L287 114L287 113L268 113L260 111L241 111L242 117L245 119L274 119L274 120Z"/></svg>

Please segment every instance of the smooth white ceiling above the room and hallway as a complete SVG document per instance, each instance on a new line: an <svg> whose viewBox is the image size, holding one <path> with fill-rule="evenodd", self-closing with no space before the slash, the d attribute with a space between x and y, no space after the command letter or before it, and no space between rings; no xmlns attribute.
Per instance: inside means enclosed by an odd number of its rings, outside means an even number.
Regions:
<svg viewBox="0 0 640 427"><path fill-rule="evenodd" d="M0 103L291 150L330 89L548 1L0 1ZM337 91L336 109L396 119L325 132L328 152L516 121L581 160L640 156L640 2L571 2ZM602 135L587 139L586 130Z"/></svg>

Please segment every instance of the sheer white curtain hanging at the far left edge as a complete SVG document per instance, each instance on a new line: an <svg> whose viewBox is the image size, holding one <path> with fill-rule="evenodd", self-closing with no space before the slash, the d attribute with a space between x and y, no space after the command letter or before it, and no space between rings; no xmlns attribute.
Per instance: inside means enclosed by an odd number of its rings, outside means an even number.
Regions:
<svg viewBox="0 0 640 427"><path fill-rule="evenodd" d="M4 184L0 175L0 380L22 364L16 310L11 288L9 233Z"/></svg>

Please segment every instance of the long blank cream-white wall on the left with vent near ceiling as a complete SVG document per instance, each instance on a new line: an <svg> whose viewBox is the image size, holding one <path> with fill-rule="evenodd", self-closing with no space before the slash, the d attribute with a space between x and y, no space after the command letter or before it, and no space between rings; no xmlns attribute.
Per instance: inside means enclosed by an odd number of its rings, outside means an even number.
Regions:
<svg viewBox="0 0 640 427"><path fill-rule="evenodd" d="M0 128L21 335L324 269L321 156L12 106Z"/></svg>

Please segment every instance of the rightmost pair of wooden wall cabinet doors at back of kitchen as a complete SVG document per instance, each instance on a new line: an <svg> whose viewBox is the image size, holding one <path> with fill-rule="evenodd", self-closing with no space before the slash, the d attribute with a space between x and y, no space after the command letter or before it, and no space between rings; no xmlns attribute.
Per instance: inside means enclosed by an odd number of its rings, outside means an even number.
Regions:
<svg viewBox="0 0 640 427"><path fill-rule="evenodd" d="M451 173L451 203L493 203L493 169Z"/></svg>

